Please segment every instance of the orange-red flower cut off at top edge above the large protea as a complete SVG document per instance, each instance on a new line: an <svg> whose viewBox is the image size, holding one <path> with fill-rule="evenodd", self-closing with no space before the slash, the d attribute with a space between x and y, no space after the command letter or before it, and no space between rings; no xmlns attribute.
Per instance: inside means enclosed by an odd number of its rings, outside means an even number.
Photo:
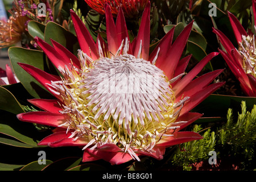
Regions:
<svg viewBox="0 0 256 182"><path fill-rule="evenodd" d="M135 18L143 12L148 0L85 0L85 2L100 14L105 14L104 5L109 3L113 16L117 16L119 7L122 7L126 18Z"/></svg>

